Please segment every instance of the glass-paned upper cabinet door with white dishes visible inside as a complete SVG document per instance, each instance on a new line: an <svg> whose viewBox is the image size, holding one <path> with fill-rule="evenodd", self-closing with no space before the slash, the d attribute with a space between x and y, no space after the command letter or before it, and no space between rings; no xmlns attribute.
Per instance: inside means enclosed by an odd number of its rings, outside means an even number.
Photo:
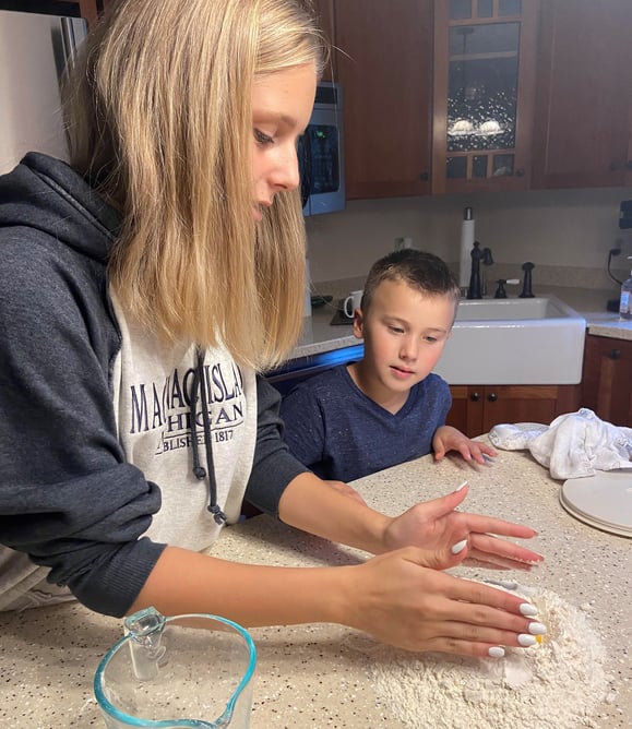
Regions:
<svg viewBox="0 0 632 729"><path fill-rule="evenodd" d="M539 0L436 0L433 192L528 187Z"/></svg>

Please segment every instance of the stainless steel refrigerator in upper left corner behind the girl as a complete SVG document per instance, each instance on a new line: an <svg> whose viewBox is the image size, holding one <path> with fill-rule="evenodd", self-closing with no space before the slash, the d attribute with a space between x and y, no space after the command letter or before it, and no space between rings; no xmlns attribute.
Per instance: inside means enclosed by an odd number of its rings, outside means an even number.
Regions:
<svg viewBox="0 0 632 729"><path fill-rule="evenodd" d="M0 174L31 151L67 159L59 80L86 33L82 19L0 11Z"/></svg>

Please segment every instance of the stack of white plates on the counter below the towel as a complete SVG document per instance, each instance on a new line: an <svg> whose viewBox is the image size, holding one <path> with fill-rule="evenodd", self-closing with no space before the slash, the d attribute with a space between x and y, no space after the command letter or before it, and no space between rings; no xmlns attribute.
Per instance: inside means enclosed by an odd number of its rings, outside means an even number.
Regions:
<svg viewBox="0 0 632 729"><path fill-rule="evenodd" d="M560 503L581 522L621 537L632 537L630 468L570 478L560 489Z"/></svg>

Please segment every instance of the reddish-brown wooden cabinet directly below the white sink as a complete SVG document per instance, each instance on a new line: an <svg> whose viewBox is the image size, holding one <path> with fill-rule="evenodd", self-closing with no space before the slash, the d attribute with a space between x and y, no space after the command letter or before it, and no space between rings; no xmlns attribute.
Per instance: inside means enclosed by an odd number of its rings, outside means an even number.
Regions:
<svg viewBox="0 0 632 729"><path fill-rule="evenodd" d="M577 409L580 390L580 385L452 385L446 422L469 438L501 422L548 425Z"/></svg>

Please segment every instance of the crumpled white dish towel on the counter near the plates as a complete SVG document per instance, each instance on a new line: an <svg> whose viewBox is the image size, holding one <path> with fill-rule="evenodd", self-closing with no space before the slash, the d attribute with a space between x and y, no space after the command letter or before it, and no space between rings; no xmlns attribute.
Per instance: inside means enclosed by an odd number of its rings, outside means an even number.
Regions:
<svg viewBox="0 0 632 729"><path fill-rule="evenodd" d="M593 476L596 470L632 468L632 428L600 420L586 407L535 422L493 426L491 443L503 451L530 451L553 478Z"/></svg>

